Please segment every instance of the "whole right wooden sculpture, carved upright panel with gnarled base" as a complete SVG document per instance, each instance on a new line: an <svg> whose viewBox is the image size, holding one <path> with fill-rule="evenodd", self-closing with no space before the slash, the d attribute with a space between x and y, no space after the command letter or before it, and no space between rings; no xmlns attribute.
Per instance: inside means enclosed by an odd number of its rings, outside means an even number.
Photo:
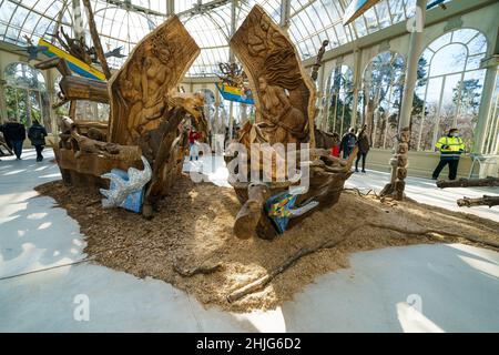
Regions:
<svg viewBox="0 0 499 355"><path fill-rule="evenodd" d="M247 182L237 180L241 178L238 172L231 175L230 182L243 204L234 233L242 239L255 234L272 239L283 232L283 225L276 225L279 217L291 219L285 225L288 227L315 207L330 206L338 201L344 183L352 174L356 151L344 161L332 158L326 150L315 149L314 130L310 129L314 128L315 85L302 67L293 43L259 6L252 9L235 32L231 48L244 65L256 105L257 123L247 123L240 133L240 143L247 148L248 159L255 149L252 143L297 143L297 163L309 169L308 190L297 196L286 194L296 181L291 176L284 182L275 179L277 156L271 162L272 182L252 181L249 173ZM299 161L299 143L310 145L307 161ZM249 160L246 163L251 165ZM259 165L261 170L263 165L265 162ZM284 211L281 204L287 202L293 209Z"/></svg>

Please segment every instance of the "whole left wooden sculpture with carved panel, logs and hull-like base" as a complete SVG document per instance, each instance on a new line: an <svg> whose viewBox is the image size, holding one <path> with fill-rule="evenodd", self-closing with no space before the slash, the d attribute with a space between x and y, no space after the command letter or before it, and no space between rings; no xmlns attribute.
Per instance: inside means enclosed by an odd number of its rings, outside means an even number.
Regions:
<svg viewBox="0 0 499 355"><path fill-rule="evenodd" d="M109 126L96 122L61 120L61 141L55 156L64 181L103 187L101 175L112 169L143 169L141 156L152 168L145 186L142 213L151 217L156 201L182 172L186 144L181 123L206 128L203 97L176 92L176 87L200 49L180 22L172 17L140 41L124 65L106 82L72 77L63 61L57 67L62 102L85 99L109 102Z"/></svg>

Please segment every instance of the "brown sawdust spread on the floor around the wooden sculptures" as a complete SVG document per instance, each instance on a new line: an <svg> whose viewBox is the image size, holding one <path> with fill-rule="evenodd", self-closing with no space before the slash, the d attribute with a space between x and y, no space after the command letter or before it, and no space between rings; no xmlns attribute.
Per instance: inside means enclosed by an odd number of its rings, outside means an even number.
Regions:
<svg viewBox="0 0 499 355"><path fill-rule="evenodd" d="M62 181L37 187L80 223L89 256L138 277L151 276L194 295L204 305L233 312L275 308L322 274L348 267L348 255L420 243L469 243L460 237L407 235L364 226L333 248L304 256L262 291L230 303L235 290L271 273L294 253L340 239L353 225L383 223L408 230L438 229L499 242L499 223L413 201L381 203L343 192L333 207L317 211L276 240L238 240L232 232L241 205L232 189L194 184L184 176L161 202L152 221L122 209L103 210L101 196ZM461 234L462 235L462 234ZM216 266L216 267L214 267ZM196 268L211 272L190 275Z"/></svg>

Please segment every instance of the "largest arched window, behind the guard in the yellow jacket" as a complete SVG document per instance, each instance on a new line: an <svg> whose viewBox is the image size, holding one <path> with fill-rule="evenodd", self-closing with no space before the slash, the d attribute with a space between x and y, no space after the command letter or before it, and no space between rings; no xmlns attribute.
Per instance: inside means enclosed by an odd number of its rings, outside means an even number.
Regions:
<svg viewBox="0 0 499 355"><path fill-rule="evenodd" d="M467 148L472 146L485 79L480 61L486 52L487 39L472 29L446 33L424 51L415 95L415 106L421 109L413 116L413 146L434 150L450 128L458 128Z"/></svg>

